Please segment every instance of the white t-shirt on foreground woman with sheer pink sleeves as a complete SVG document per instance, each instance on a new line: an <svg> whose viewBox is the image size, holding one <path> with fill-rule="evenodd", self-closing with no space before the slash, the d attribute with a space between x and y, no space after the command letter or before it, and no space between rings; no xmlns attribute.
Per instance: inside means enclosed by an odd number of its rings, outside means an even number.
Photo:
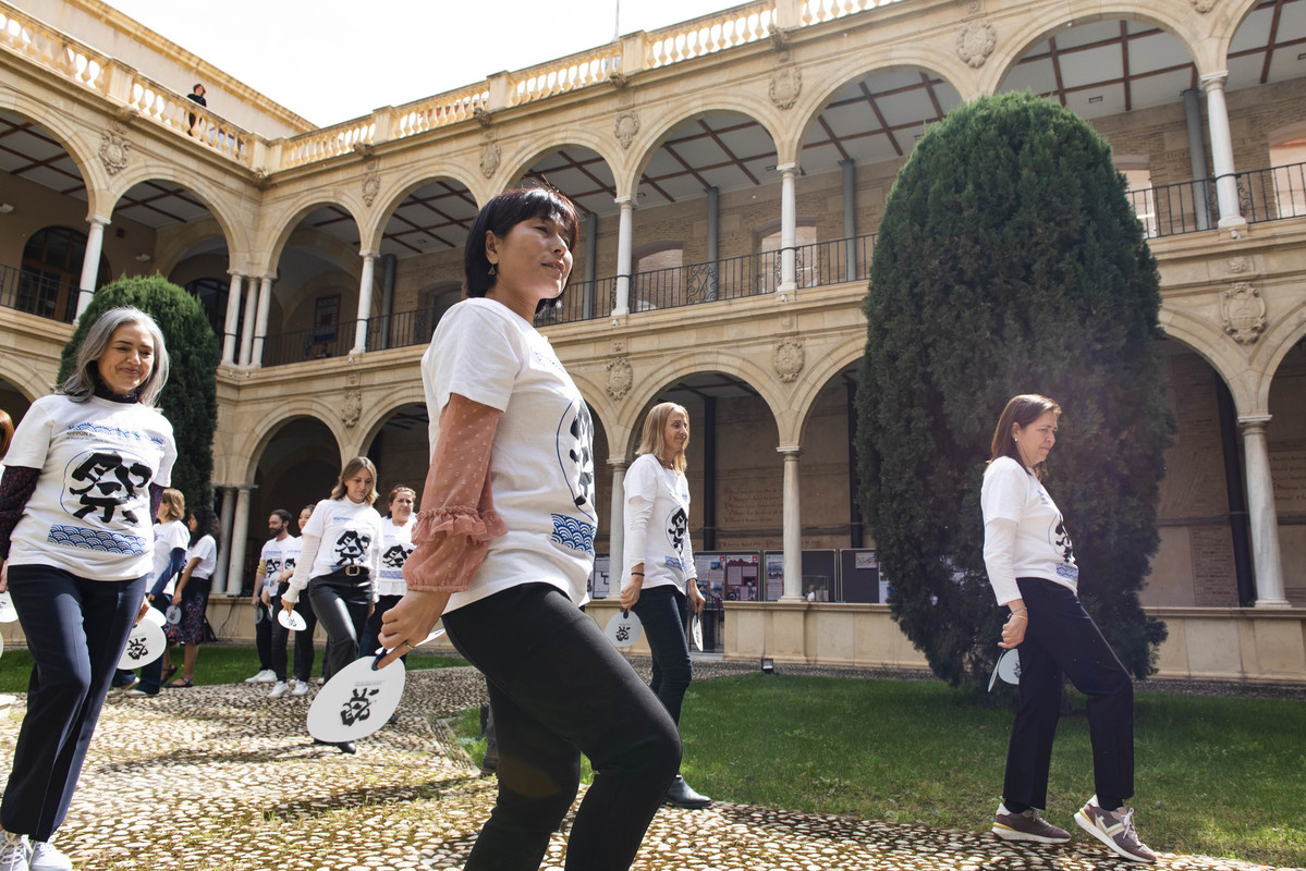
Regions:
<svg viewBox="0 0 1306 871"><path fill-rule="evenodd" d="M594 424L554 349L492 299L453 306L422 356L431 451L452 393L499 409L490 458L494 507L508 531L447 611L521 584L545 582L584 605L594 565Z"/></svg>

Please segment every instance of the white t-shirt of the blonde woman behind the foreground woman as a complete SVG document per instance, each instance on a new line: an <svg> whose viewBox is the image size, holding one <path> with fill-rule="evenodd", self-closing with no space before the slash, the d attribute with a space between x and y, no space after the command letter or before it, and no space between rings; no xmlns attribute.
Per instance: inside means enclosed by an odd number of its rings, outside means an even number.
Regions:
<svg viewBox="0 0 1306 871"><path fill-rule="evenodd" d="M684 593L686 580L699 576L690 545L690 482L652 453L637 457L626 471L624 550L622 589L629 586L631 569L640 563L644 589L671 584Z"/></svg>

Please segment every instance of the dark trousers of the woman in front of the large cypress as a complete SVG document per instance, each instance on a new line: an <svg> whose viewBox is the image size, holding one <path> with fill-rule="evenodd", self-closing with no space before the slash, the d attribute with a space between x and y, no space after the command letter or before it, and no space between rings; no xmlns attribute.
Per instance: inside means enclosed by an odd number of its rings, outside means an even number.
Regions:
<svg viewBox="0 0 1306 871"><path fill-rule="evenodd" d="M1003 798L1047 807L1047 769L1060 718L1062 676L1088 696L1093 785L1115 810L1134 794L1134 682L1068 588L1019 577L1029 610L1020 652L1020 706L1011 727Z"/></svg>

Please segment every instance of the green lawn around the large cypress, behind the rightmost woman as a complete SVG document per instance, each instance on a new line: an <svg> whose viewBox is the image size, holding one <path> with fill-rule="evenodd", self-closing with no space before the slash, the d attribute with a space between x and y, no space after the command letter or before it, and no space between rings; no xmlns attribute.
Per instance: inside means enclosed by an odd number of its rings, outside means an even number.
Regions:
<svg viewBox="0 0 1306 871"><path fill-rule="evenodd" d="M1135 699L1132 803L1149 846L1306 864L1306 704ZM478 731L471 712L458 725ZM1010 727L1010 709L942 683L744 675L690 688L680 770L730 802L980 832L1000 799ZM468 743L479 760L483 742ZM1074 828L1092 793L1079 699L1058 730L1049 817Z"/></svg>

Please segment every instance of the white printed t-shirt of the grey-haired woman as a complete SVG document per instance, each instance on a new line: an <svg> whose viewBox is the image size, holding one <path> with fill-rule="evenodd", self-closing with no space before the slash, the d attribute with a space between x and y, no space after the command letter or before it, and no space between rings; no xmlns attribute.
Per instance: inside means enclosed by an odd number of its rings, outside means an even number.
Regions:
<svg viewBox="0 0 1306 871"><path fill-rule="evenodd" d="M13 529L10 565L51 565L125 581L154 564L150 484L168 486L172 424L136 402L43 396L13 434L5 462L39 469Z"/></svg>

